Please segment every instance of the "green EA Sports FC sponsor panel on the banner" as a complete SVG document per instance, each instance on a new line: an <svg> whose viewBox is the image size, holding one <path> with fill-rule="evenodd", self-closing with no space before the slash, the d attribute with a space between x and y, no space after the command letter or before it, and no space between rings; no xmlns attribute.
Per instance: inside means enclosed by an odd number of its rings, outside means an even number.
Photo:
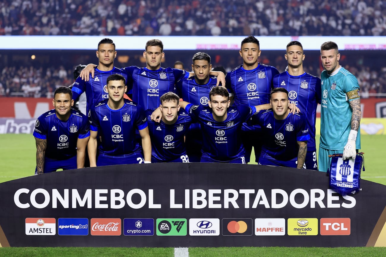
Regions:
<svg viewBox="0 0 386 257"><path fill-rule="evenodd" d="M186 235L186 218L157 218L157 235Z"/></svg>

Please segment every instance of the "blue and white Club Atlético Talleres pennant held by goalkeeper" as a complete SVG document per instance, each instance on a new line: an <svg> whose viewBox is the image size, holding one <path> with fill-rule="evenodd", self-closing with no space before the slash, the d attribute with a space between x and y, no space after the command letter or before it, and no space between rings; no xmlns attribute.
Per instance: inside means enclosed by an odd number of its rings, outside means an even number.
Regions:
<svg viewBox="0 0 386 257"><path fill-rule="evenodd" d="M342 154L330 155L330 188L342 196L359 192L359 181L364 166L364 153L343 160Z"/></svg>

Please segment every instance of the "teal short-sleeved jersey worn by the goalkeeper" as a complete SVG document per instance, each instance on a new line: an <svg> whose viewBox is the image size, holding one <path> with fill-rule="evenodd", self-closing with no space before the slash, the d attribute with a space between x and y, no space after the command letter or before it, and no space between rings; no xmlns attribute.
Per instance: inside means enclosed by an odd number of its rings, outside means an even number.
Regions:
<svg viewBox="0 0 386 257"><path fill-rule="evenodd" d="M320 110L320 146L325 149L339 150L347 143L351 129L352 110L346 93L358 89L357 78L340 67L331 75L323 71L322 108ZM361 149L361 130L358 129L356 149Z"/></svg>

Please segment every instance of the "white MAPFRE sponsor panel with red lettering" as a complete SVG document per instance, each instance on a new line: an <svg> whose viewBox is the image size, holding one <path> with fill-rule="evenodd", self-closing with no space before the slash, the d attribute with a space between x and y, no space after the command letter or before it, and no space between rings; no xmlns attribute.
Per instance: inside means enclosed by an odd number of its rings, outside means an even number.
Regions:
<svg viewBox="0 0 386 257"><path fill-rule="evenodd" d="M255 218L255 235L285 235L284 218Z"/></svg>

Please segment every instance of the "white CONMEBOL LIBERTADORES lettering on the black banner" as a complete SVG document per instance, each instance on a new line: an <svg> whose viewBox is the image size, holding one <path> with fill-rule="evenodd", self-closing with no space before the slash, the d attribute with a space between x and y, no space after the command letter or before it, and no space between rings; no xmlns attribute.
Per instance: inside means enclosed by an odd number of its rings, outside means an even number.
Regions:
<svg viewBox="0 0 386 257"><path fill-rule="evenodd" d="M124 190L114 188L114 189L87 189L83 196L80 195L77 189L71 189L71 196L69 195L69 189L64 189L63 192L59 192L58 189L54 188L51 192L44 188L36 188L30 191L27 188L20 188L14 194L14 203L17 207L25 209L31 207L35 208L46 208L50 203L52 208L58 208L59 206L63 208L70 208L69 203L71 202L71 208L112 208L112 209L121 209L125 208L126 205L133 209L144 208L146 203L149 209L160 209L161 204L154 203L154 190L149 189L147 194L145 191L134 188L127 193ZM83 191L83 190L82 190ZM93 202L92 193L94 191L95 199ZM176 195L181 195L181 192L175 191L175 189L170 189L169 197L169 207L170 208L190 208L190 201L192 201L193 209L203 209L203 208L229 208L230 205L233 208L284 208L288 204L295 208L353 208L356 205L356 200L354 197L349 195L344 196L346 200L342 203L337 203L339 201L339 195L331 189L327 191L313 188L310 191L306 191L302 188L296 188L293 191L287 192L283 189L276 188L269 191L264 191L264 189L240 189L239 191L235 189L185 189L185 201L183 203L178 203L175 200ZM192 192L192 193L191 193ZM270 200L267 198L267 193L270 195ZM23 200L20 198L26 199L24 194L29 195L29 201ZM41 195L43 196L43 200ZM126 197L125 197L126 194ZM156 193L159 195L158 193ZM190 196L191 194L191 196ZM23 196L22 196L23 195ZM36 201L37 195L39 195L39 201ZM135 197L134 197L135 195ZM239 199L244 199L244 204ZM278 197L281 195L281 197ZM327 195L327 197L326 197ZM133 202L133 198L135 202ZM254 198L252 202L252 207L250 207L250 198ZM28 196L27 196L28 199ZM167 199L167 198L162 198ZM281 199L281 202L278 202L278 199ZM110 200L110 201L109 201ZM324 200L324 203L323 203ZM325 204L327 203L327 205ZM79 206L78 206L79 204ZM241 206L241 207L240 207Z"/></svg>

